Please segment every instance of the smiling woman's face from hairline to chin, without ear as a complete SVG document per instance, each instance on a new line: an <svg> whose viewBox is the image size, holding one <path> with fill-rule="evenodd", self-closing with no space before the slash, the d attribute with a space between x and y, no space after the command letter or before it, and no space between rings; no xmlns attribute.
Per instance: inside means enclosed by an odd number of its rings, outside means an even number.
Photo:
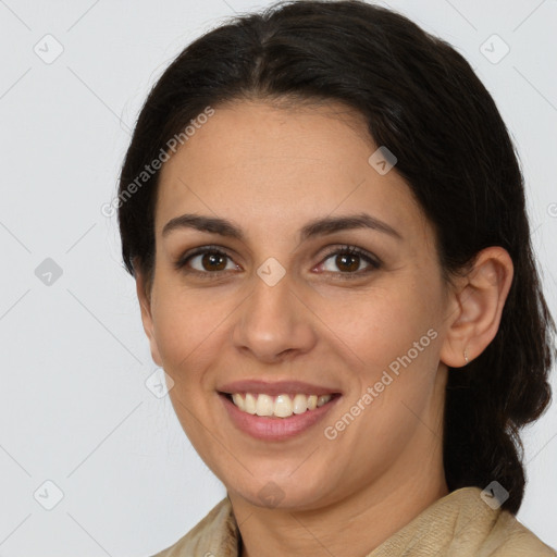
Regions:
<svg viewBox="0 0 557 557"><path fill-rule="evenodd" d="M434 234L341 110L216 108L161 171L153 359L201 458L258 506L444 483Z"/></svg>

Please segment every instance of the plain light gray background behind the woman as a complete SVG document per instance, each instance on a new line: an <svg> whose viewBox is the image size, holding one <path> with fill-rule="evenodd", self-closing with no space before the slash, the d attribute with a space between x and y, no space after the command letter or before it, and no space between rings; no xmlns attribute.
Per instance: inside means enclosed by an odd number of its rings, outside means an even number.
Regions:
<svg viewBox="0 0 557 557"><path fill-rule="evenodd" d="M100 208L170 61L223 17L269 3L0 0L0 556L152 555L224 496L168 396L145 384L156 366L116 219ZM387 3L451 42L495 97L557 313L557 2ZM510 47L498 63L505 47L493 34ZM50 285L35 274L46 258L62 270ZM524 432L519 512L555 547L556 417L554 404ZM63 498L46 510L57 490Z"/></svg>

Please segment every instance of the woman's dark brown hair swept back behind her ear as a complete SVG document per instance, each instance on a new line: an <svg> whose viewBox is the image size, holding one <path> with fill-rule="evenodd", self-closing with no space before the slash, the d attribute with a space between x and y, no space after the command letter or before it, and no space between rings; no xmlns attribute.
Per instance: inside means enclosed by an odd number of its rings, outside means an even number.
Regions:
<svg viewBox="0 0 557 557"><path fill-rule="evenodd" d="M159 172L123 197L168 141L200 114L243 99L342 101L433 223L446 276L487 246L515 275L494 341L465 370L449 370L444 467L450 491L493 480L516 513L525 476L519 429L550 401L555 325L530 238L523 177L494 100L447 42L405 16L362 1L288 1L246 14L195 40L171 63L139 114L120 176L126 269L152 278ZM162 150L162 151L161 151ZM127 189L129 193L129 189Z"/></svg>

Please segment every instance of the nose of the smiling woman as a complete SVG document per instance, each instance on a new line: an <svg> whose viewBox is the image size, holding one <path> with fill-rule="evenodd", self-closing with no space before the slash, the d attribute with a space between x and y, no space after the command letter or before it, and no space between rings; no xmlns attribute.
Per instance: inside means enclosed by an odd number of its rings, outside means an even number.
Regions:
<svg viewBox="0 0 557 557"><path fill-rule="evenodd" d="M259 361L292 359L317 343L313 313L293 290L288 273L274 286L255 275L252 292L236 315L234 345Z"/></svg>

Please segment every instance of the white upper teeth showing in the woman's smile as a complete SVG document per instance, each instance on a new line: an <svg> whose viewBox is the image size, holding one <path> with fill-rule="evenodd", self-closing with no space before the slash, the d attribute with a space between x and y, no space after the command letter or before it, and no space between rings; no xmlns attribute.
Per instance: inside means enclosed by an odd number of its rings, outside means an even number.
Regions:
<svg viewBox="0 0 557 557"><path fill-rule="evenodd" d="M275 416L277 418L288 418L293 413L304 413L306 410L314 410L331 400L332 395L301 395L297 394L292 398L289 395L257 395L246 393L242 395L235 393L232 395L234 404L244 412L257 416Z"/></svg>

